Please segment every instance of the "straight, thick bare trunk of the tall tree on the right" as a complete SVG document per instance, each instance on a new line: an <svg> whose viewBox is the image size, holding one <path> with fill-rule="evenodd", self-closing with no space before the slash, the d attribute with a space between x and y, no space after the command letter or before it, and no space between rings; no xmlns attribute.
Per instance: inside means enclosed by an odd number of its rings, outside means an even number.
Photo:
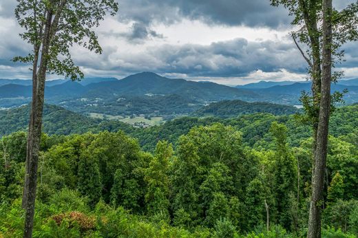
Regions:
<svg viewBox="0 0 358 238"><path fill-rule="evenodd" d="M324 189L324 173L328 144L330 116L330 82L332 78L332 0L323 1L322 82L319 103L315 170L313 171L312 195L308 221L308 238L321 237L321 210Z"/></svg>

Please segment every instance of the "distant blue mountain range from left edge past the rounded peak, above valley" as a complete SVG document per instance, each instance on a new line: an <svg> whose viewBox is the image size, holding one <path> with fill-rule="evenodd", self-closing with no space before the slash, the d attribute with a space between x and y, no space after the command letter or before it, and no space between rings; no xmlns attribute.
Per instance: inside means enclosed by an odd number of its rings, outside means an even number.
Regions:
<svg viewBox="0 0 358 238"><path fill-rule="evenodd" d="M12 85L17 85L15 80ZM23 80L28 81L28 80ZM9 84L8 84L9 85ZM21 84L18 87L10 88L2 85L1 91L6 91L6 96L28 96L31 91L30 85ZM173 79L159 76L158 74L143 72L116 80L115 78L89 78L79 82L70 80L51 80L46 83L46 98L63 94L72 97L108 97L108 96L145 96L146 94L178 94L191 100L202 102L218 101L224 99L246 99L255 100L260 96L244 89L219 85L216 83L198 83L185 79ZM22 87L20 87L22 86ZM5 87L3 89L3 87ZM5 94L0 94L0 98Z"/></svg>

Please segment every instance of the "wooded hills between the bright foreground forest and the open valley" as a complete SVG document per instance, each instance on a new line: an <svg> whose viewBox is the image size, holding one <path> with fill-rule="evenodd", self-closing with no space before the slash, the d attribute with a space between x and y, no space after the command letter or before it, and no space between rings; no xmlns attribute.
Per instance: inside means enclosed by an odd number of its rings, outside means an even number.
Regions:
<svg viewBox="0 0 358 238"><path fill-rule="evenodd" d="M99 120L87 118L78 113L68 111L54 105L45 105L43 130L49 135L69 135L71 133L99 133L101 131L125 131L129 136L138 139L145 151L154 151L159 140L167 140L174 146L178 138L192 127L212 125L220 122L241 131L243 143L257 150L270 147L272 136L268 133L274 121L284 123L288 129L288 144L299 147L302 140L306 140L312 133L310 127L297 120L297 116L273 116L270 113L253 113L232 118L196 118L183 117L165 122L163 125L147 129L136 129L124 122L116 120ZM28 106L0 111L0 136L28 127ZM330 133L335 137L357 145L358 141L358 105L340 107L330 118Z"/></svg>

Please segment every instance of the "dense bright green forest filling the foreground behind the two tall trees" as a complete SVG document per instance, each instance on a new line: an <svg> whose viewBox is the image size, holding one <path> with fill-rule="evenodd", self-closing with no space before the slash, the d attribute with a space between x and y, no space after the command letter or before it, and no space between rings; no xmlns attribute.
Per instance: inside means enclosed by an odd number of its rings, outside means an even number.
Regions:
<svg viewBox="0 0 358 238"><path fill-rule="evenodd" d="M290 146L277 120L260 147L242 135L213 122L148 153L123 131L43 134L34 237L305 237L311 139ZM323 237L358 235L348 135L330 137ZM0 237L23 232L25 144L21 131L0 140Z"/></svg>

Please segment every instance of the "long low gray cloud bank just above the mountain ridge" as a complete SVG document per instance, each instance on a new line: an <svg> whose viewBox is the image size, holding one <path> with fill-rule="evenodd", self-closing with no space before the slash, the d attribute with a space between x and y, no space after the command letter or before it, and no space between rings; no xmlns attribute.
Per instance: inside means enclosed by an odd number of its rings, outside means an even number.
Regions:
<svg viewBox="0 0 358 238"><path fill-rule="evenodd" d="M106 50L105 50L106 51ZM148 47L145 52L120 55L108 49L112 56L82 58L76 61L86 69L107 72L136 73L151 71L187 76L247 76L257 69L264 72L305 73L306 64L293 43L275 41L253 42L234 39L211 45L158 45Z"/></svg>

